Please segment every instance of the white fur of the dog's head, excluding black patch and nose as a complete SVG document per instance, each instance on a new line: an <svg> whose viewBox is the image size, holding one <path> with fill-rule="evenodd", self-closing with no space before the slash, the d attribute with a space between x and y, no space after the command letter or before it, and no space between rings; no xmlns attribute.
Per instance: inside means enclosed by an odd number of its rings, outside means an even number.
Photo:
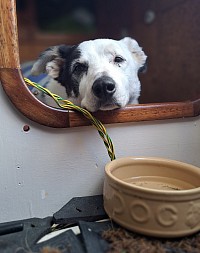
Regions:
<svg viewBox="0 0 200 253"><path fill-rule="evenodd" d="M58 85L58 82L54 80L54 78L58 78L60 69L65 61L68 61L67 58L63 59L58 56L58 48L59 46L53 47L50 52L44 53L46 58L42 63L42 67L39 58L32 69L33 74L48 73L52 78L47 87L49 90L92 112L112 110L124 107L127 104L138 103L141 90L138 70L144 66L147 56L134 39L129 37L119 41L96 39L82 42L77 46L80 51L80 57L74 60L71 59L70 73L73 73L77 63L88 64L87 73L85 72L81 78L77 78L79 86L78 96L75 96L73 91L68 96L65 87ZM118 57L118 61L116 57ZM99 97L92 92L94 82L102 76L108 76L115 83L115 92L111 101L104 103L101 103ZM45 96L43 101L48 105L55 105L48 96Z"/></svg>

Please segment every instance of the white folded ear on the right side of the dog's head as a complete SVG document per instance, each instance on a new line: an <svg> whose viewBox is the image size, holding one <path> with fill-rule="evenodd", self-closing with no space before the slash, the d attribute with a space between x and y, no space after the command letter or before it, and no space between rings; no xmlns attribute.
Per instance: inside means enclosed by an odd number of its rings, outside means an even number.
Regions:
<svg viewBox="0 0 200 253"><path fill-rule="evenodd" d="M121 41L128 47L134 59L136 59L136 61L138 62L138 70L146 69L145 66L146 66L147 56L142 50L142 48L138 45L137 41L130 37L125 37Z"/></svg>

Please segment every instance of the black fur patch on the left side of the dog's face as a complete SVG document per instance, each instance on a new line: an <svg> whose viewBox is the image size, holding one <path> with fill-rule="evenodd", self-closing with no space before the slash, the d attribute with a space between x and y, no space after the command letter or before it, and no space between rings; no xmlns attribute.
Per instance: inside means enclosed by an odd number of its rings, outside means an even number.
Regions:
<svg viewBox="0 0 200 253"><path fill-rule="evenodd" d="M66 88L67 95L70 97L72 96L72 92L74 93L75 97L79 95L79 80L77 75L73 74L73 70L71 69L72 62L76 59L79 59L81 56L81 52L78 49L78 45L76 46L66 46L61 45L59 47L59 55L64 60L62 64L59 76L55 78L61 85ZM79 71L81 68L79 69ZM78 68L77 68L78 71Z"/></svg>

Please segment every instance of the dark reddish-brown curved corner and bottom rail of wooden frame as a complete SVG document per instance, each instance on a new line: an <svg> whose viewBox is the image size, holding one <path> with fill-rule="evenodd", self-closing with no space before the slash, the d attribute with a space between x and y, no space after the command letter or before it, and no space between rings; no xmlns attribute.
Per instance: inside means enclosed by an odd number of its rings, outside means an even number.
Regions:
<svg viewBox="0 0 200 253"><path fill-rule="evenodd" d="M90 125L78 112L60 110L40 102L27 88L20 69L0 69L2 86L15 107L29 119L49 127L68 128ZM195 101L130 105L123 109L98 111L93 115L103 124L175 119L200 114L200 99Z"/></svg>

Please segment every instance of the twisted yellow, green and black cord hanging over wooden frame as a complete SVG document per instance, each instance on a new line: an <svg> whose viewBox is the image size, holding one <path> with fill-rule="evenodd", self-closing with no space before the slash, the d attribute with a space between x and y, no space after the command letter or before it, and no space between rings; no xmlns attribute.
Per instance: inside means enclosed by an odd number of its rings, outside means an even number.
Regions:
<svg viewBox="0 0 200 253"><path fill-rule="evenodd" d="M107 134L106 128L90 112L88 112L84 108L81 108L81 107L73 104L69 100L65 100L65 99L61 98L57 94L52 93L47 88L42 87L38 83L32 82L28 78L24 78L24 80L25 80L25 82L26 82L27 85L33 86L36 89L38 89L38 90L44 92L45 94L49 95L50 97L52 97L59 107L61 107L63 109L72 110L72 111L78 111L78 112L82 113L87 119L89 119L90 122L92 123L92 125L97 128L99 135L103 139L103 142L104 142L104 144L106 146L106 149L108 151L108 155L109 155L111 161L115 159L114 146L113 146L111 138Z"/></svg>

